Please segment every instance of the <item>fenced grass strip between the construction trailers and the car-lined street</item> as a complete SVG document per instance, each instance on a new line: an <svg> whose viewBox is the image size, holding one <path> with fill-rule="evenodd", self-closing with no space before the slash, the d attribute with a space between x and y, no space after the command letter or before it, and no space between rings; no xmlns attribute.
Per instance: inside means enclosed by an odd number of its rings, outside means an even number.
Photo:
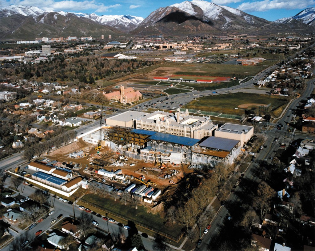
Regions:
<svg viewBox="0 0 315 251"><path fill-rule="evenodd" d="M119 215L125 216L135 223L144 224L148 227L165 232L171 236L176 237L180 233L180 227L174 226L174 228L169 228L163 224L164 219L161 218L159 214L151 214L146 211L144 206L139 206L138 209L130 205L123 205L120 201L114 201L110 198L101 198L94 194L84 195L82 197L83 202L88 201L94 205L101 205L104 211L109 213L117 213ZM115 219L115 217L114 217Z"/></svg>

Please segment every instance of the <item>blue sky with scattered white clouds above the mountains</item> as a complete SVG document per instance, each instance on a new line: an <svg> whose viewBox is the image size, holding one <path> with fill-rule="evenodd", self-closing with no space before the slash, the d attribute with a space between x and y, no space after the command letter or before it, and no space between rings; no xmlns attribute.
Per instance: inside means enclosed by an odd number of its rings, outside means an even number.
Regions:
<svg viewBox="0 0 315 251"><path fill-rule="evenodd" d="M98 15L134 15L146 18L152 11L184 0L5 0L2 6L11 4L36 6L44 10L96 13ZM240 9L251 15L274 21L294 16L315 0L207 0L218 5Z"/></svg>

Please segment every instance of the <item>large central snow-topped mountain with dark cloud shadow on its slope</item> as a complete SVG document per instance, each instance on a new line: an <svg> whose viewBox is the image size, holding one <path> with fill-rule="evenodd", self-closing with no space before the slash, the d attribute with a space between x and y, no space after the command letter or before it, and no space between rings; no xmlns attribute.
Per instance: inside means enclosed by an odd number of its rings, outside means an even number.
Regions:
<svg viewBox="0 0 315 251"><path fill-rule="evenodd" d="M187 33L205 33L214 30L254 30L269 23L265 19L249 15L238 9L219 6L203 0L192 0L158 8L132 33L150 34L160 31L163 34L163 30L173 34L180 30Z"/></svg>

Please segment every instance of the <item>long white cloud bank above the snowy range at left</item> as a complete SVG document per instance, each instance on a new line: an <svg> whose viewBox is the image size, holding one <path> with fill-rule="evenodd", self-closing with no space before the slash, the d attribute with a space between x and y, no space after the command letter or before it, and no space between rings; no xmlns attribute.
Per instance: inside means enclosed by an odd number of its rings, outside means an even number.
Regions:
<svg viewBox="0 0 315 251"><path fill-rule="evenodd" d="M84 11L84 10L95 10L95 12L105 12L111 8L117 8L121 5L114 4L106 6L104 4L99 4L92 1L73 1L73 0L63 0L63 1L54 1L54 0L46 0L46 1L38 1L38 0L10 0L8 5L17 4L17 5L26 5L26 6L36 6L43 10L54 10L54 11Z"/></svg>

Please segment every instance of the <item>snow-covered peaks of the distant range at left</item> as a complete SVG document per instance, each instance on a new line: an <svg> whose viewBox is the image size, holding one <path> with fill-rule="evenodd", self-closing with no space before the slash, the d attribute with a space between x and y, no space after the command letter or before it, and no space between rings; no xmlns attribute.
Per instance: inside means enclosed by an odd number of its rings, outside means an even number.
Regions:
<svg viewBox="0 0 315 251"><path fill-rule="evenodd" d="M8 17L14 14L37 17L38 15L41 15L44 13L51 13L51 12L54 12L54 11L42 10L40 8L32 7L32 6L10 5L8 7L4 7L0 9L0 18ZM143 21L142 17L130 16L130 15L99 16L95 13L87 14L87 13L75 13L75 12L65 12L65 11L58 11L57 13L63 16L66 16L67 14L71 13L78 17L88 18L97 23L105 24L124 32L134 29L139 23Z"/></svg>

